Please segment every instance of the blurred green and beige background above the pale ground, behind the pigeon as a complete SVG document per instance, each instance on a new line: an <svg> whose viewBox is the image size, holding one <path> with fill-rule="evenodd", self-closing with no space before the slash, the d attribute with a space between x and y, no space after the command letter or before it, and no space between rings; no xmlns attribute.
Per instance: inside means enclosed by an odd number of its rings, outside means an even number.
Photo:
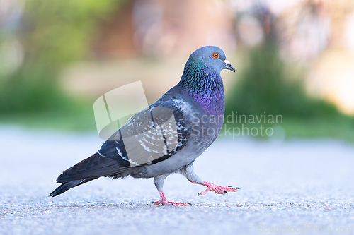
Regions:
<svg viewBox="0 0 354 235"><path fill-rule="evenodd" d="M0 1L0 123L95 131L93 102L142 80L149 104L191 52L224 49L225 115L259 138L354 142L353 1Z"/></svg>

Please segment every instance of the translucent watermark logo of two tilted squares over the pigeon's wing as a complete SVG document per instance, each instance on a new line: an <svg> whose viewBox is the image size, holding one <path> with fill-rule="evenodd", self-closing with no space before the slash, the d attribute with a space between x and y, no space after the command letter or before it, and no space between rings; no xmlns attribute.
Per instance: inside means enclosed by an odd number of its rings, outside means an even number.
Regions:
<svg viewBox="0 0 354 235"><path fill-rule="evenodd" d="M141 81L105 93L94 102L93 110L99 137L115 141L115 151L131 167L167 155L178 145L173 111L148 107Z"/></svg>

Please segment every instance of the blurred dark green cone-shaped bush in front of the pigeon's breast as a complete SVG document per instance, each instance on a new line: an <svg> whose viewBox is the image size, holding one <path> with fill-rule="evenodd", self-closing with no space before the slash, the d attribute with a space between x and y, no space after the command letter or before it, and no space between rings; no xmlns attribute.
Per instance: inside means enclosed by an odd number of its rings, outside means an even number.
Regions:
<svg viewBox="0 0 354 235"><path fill-rule="evenodd" d="M237 111L238 114L255 115L266 112L295 118L337 113L333 105L307 97L302 84L292 76L272 40L250 49L249 62L227 102L226 113Z"/></svg>

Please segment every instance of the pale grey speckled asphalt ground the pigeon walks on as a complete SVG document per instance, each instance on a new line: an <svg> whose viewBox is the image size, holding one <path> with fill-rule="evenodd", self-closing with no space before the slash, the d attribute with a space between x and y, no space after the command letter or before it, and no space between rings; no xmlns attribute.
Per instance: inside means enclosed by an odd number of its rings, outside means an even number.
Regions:
<svg viewBox="0 0 354 235"><path fill-rule="evenodd" d="M198 197L205 187L169 176L167 198L191 206L151 205L152 179L98 179L48 198L57 176L102 143L95 133L0 126L0 234L353 234L353 145L220 138L195 171L241 191Z"/></svg>

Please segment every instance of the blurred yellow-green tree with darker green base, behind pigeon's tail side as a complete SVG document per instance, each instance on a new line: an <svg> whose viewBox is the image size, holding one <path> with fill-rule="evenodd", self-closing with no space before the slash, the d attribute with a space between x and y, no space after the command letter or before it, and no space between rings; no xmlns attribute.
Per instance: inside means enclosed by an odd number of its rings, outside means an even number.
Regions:
<svg viewBox="0 0 354 235"><path fill-rule="evenodd" d="M16 32L23 46L23 64L17 71L1 75L0 112L58 109L66 99L58 88L59 69L88 56L99 20L124 1L26 1Z"/></svg>

